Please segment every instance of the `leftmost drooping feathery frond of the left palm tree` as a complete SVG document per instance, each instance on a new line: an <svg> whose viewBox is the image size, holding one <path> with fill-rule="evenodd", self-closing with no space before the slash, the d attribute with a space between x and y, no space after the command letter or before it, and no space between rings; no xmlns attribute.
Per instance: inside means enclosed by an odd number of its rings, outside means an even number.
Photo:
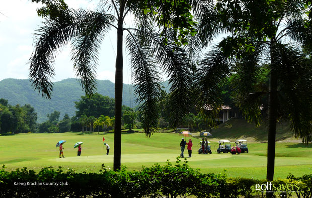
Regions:
<svg viewBox="0 0 312 198"><path fill-rule="evenodd" d="M67 15L65 21L47 19L35 34L35 50L29 59L29 78L32 86L39 94L51 98L53 83L50 80L55 75L55 53L75 35L76 24L74 16Z"/></svg>

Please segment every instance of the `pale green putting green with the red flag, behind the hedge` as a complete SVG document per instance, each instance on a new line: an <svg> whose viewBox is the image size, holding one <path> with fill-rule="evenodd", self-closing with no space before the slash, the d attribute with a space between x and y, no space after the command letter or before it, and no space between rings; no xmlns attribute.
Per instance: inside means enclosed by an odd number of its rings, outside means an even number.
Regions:
<svg viewBox="0 0 312 198"><path fill-rule="evenodd" d="M176 161L177 154L125 154L121 156L121 163L160 163L167 159L170 161ZM189 162L191 161L209 161L215 159L225 159L230 158L230 155L198 155L195 153L190 158L187 158ZM71 163L113 163L113 155L91 155L91 156L76 156L76 157L65 157L65 158L54 158L48 159L49 161L58 162L60 165L62 162Z"/></svg>

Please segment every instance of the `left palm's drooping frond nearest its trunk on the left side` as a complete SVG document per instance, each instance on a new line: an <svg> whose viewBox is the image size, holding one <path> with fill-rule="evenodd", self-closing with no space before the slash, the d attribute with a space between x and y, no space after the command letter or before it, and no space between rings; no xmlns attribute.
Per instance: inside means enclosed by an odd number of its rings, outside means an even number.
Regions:
<svg viewBox="0 0 312 198"><path fill-rule="evenodd" d="M83 91L93 95L96 89L98 49L114 18L102 12L79 10L75 19L81 21L79 34L73 39L72 58L76 76Z"/></svg>

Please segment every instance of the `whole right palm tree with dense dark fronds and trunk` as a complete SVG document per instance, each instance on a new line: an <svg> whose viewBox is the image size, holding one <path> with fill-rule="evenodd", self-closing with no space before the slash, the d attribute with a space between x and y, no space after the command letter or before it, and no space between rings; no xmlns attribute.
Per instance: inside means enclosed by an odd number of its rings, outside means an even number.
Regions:
<svg viewBox="0 0 312 198"><path fill-rule="evenodd" d="M273 180L277 120L290 120L296 137L301 137L303 142L312 141L312 115L308 113L312 111L312 66L305 54L312 51L312 37L306 23L307 8L303 1L296 0L232 1L226 5L220 2L217 8L223 15L223 26L232 35L219 44L222 52L216 47L201 61L197 106L220 105L218 85L233 71L238 105L249 121L259 124L261 97L268 94L267 179ZM257 86L266 55L270 85Z"/></svg>

